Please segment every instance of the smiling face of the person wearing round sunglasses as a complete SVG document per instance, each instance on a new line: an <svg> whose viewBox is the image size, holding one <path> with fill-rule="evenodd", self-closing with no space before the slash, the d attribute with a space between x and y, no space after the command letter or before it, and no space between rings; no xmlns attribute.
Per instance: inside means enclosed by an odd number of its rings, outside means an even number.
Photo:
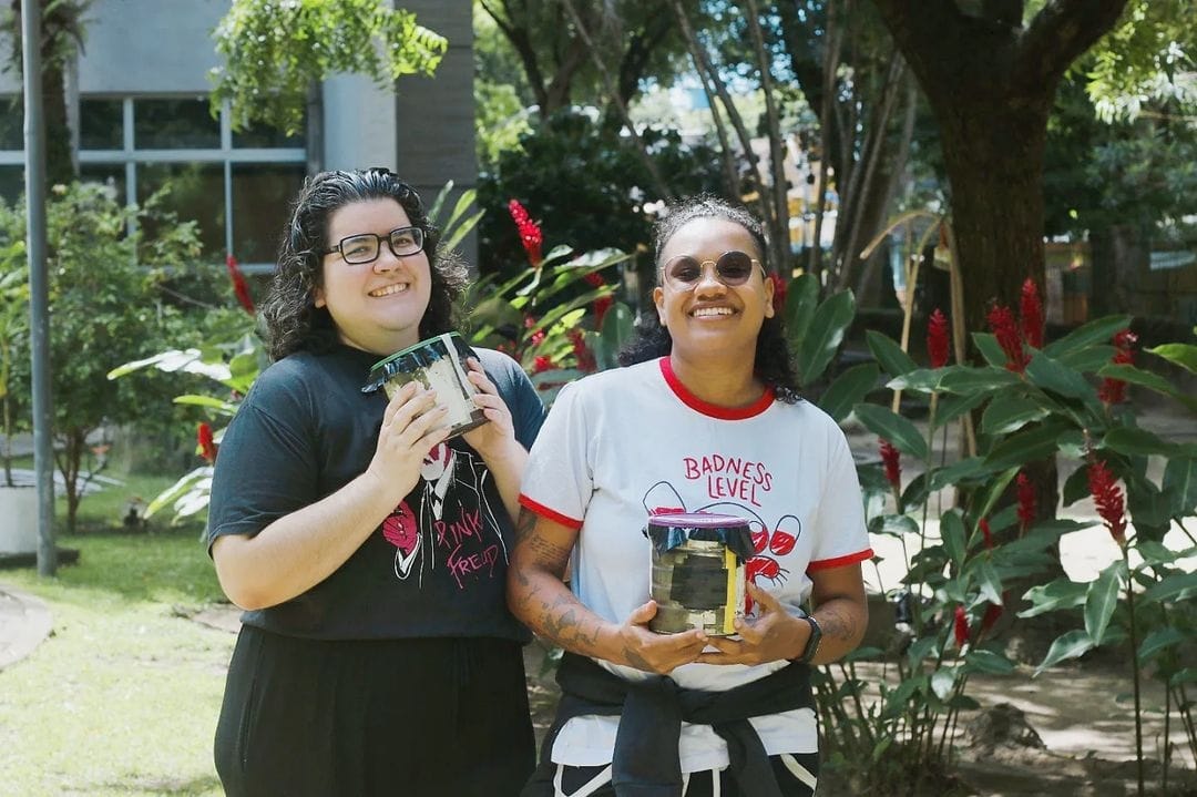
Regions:
<svg viewBox="0 0 1197 797"><path fill-rule="evenodd" d="M680 226L666 242L657 268L680 255L699 262L717 261L731 250L764 260L757 239L735 221L698 218ZM751 361L760 326L773 316L773 284L754 268L747 282L728 287L707 263L692 290L681 291L664 282L652 291L652 300L673 339L674 353L692 360L735 355Z"/></svg>

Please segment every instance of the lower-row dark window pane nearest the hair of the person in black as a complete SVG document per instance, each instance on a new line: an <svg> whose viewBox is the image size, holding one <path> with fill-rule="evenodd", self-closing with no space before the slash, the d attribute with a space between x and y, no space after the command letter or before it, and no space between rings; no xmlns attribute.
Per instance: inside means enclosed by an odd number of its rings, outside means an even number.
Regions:
<svg viewBox="0 0 1197 797"><path fill-rule="evenodd" d="M232 254L245 263L273 263L304 165L232 165Z"/></svg>

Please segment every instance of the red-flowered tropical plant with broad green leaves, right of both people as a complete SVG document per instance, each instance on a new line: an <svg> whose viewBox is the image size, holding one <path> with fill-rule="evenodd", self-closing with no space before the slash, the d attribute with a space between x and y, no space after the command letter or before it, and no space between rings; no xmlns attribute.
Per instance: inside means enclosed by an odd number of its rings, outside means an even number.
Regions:
<svg viewBox="0 0 1197 797"><path fill-rule="evenodd" d="M789 300L815 296L803 279L791 284ZM949 364L948 320L938 311L928 334L929 367L889 337L869 331L874 361L840 373L819 400L837 420L863 425L880 438L880 462L858 468L867 505L885 507L869 517L869 529L897 537L910 561L901 583L889 585L889 597L906 615L900 644L889 651L857 650L815 681L830 763L847 773L858 793L889 793L887 783L913 783L915 791L906 793L942 793L943 781L936 778L952 760L960 711L977 706L967 694L970 676L1014 671L1015 662L995 635L1002 617L1009 623L1057 612L1082 626L1061 635L1037 671L1098 646L1129 643L1136 718L1146 711L1137 698L1140 681L1150 670L1165 683L1165 711L1178 718L1191 747L1197 738L1191 699L1197 670L1183 655L1197 641L1197 612L1189 601L1197 595L1197 574L1178 565L1197 554L1187 525L1197 513L1197 446L1141 428L1125 402L1128 385L1191 409L1197 400L1134 364L1128 316L1099 318L1047 342L1029 281L1019 315L995 305L992 331L972 335L983 365ZM786 317L797 330L800 352L803 346L826 352L851 312L803 298L786 309ZM1197 371L1192 345L1149 352ZM819 377L822 355L806 359L813 366L803 370L804 378ZM862 401L882 371L889 389L926 397L925 432L887 407ZM931 437L968 413L980 419L976 451L936 462ZM1092 495L1099 521L1035 519L1043 513L1035 511L1033 485L1022 469L1056 455L1086 463L1065 482L1064 504ZM1166 457L1159 482L1148 476L1152 456ZM918 463L913 479L904 481L903 458ZM958 499L942 509L935 497L949 488ZM1004 505L1008 488L1017 500ZM1096 522L1110 529L1118 560L1092 583L1056 578L1059 537ZM1172 523L1191 547L1163 544ZM937 537L929 534L935 527ZM868 683L857 669L874 659L886 663L879 685ZM880 701L870 696L875 687ZM1146 756L1138 741L1142 783Z"/></svg>

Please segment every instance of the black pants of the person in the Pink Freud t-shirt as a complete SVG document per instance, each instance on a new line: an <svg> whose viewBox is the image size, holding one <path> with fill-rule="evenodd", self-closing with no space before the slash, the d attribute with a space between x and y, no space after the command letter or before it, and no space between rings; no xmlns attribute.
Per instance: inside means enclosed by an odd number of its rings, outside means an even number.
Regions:
<svg viewBox="0 0 1197 797"><path fill-rule="evenodd" d="M518 643L237 639L215 737L230 797L515 796L534 758Z"/></svg>

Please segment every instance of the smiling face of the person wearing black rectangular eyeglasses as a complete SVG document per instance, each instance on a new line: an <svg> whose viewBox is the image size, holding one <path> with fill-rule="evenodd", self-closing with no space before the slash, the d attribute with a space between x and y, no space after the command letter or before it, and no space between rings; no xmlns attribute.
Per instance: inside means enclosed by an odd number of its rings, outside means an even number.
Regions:
<svg viewBox="0 0 1197 797"><path fill-rule="evenodd" d="M316 306L326 308L341 342L373 354L390 354L420 340L432 274L424 251L396 257L387 233L411 226L403 207L391 199L352 202L328 219L328 245L363 232L383 238L378 258L351 266L338 251L323 256Z"/></svg>

